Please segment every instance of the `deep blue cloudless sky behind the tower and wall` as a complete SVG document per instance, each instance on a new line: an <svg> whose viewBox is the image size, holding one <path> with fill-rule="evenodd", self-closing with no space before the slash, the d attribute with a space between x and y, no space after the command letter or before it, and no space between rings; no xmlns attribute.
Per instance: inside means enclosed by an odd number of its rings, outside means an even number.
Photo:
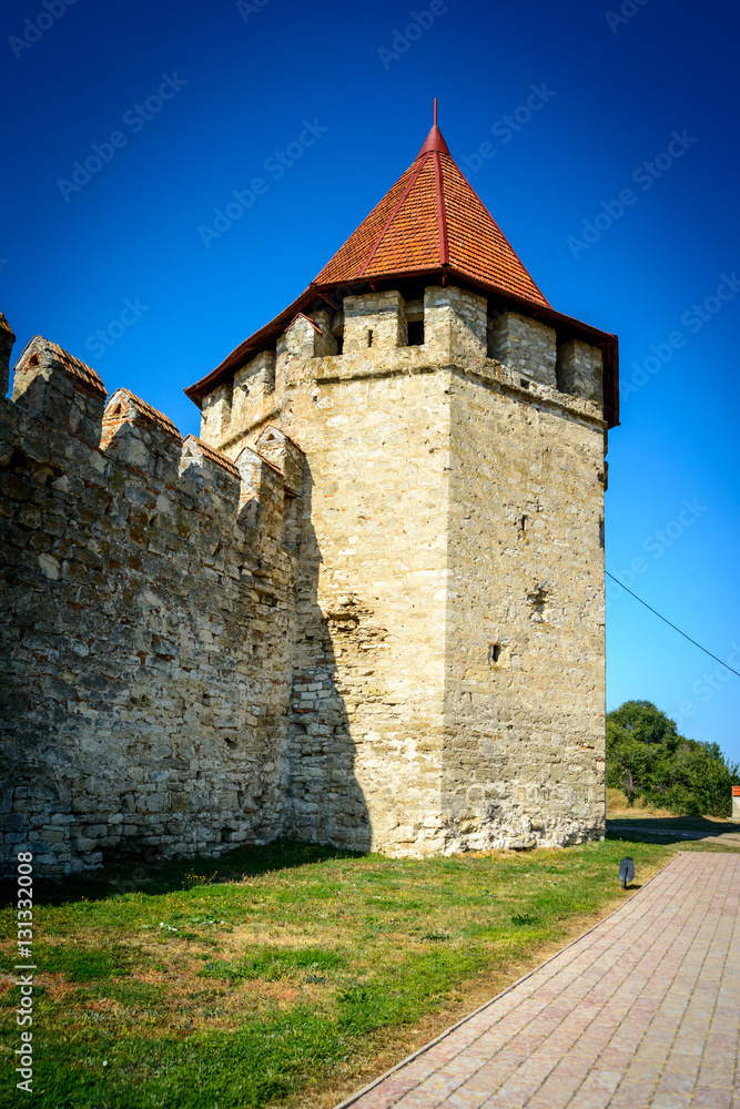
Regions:
<svg viewBox="0 0 740 1109"><path fill-rule="evenodd" d="M414 159L436 95L546 296L620 337L608 568L740 670L732 6L8 0L3 27L17 354L42 334L197 431L182 389L303 291ZM740 679L610 593L609 706L655 701L740 760Z"/></svg>

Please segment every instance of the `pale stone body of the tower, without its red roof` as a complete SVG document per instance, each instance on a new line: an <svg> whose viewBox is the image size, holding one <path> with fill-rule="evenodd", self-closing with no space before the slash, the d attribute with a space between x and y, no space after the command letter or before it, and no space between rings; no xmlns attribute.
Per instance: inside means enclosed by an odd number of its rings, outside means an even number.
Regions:
<svg viewBox="0 0 740 1109"><path fill-rule="evenodd" d="M268 400L305 456L287 827L392 854L601 835L601 411L556 389L550 328L517 317L513 364L487 358L476 294L428 288L414 347L347 299L373 345Z"/></svg>

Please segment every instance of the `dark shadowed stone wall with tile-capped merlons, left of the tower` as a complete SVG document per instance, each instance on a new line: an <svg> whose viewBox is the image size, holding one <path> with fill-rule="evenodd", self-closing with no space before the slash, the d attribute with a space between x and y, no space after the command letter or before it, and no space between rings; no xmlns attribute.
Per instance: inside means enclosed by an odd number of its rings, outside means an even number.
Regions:
<svg viewBox="0 0 740 1109"><path fill-rule="evenodd" d="M30 844L41 873L219 854L284 823L283 475L183 442L125 389L104 400L34 339L0 401L0 826L6 858Z"/></svg>

